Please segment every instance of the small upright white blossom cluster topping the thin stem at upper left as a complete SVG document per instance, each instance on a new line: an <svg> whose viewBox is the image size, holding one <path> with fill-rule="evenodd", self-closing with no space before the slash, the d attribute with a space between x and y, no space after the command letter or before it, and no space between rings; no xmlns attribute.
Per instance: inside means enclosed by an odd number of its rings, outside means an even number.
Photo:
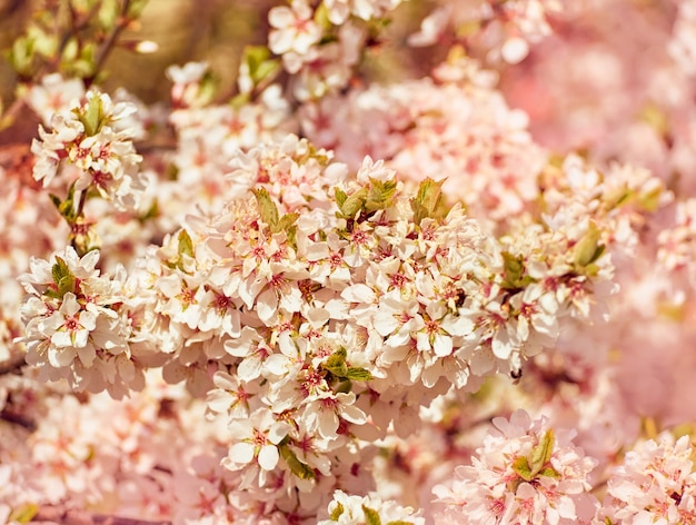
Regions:
<svg viewBox="0 0 696 525"><path fill-rule="evenodd" d="M97 90L61 106L50 118L50 131L39 126L40 139L31 145L37 157L34 179L49 186L68 165L77 170L77 191L95 189L120 209L137 208L145 180L132 143L137 129L128 119L136 111L135 105L112 102Z"/></svg>

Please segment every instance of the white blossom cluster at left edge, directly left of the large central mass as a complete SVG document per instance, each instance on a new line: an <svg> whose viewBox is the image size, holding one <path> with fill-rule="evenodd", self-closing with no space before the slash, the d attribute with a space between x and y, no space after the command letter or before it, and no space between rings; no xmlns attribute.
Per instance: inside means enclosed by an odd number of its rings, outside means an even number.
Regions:
<svg viewBox="0 0 696 525"><path fill-rule="evenodd" d="M20 276L28 294L21 315L27 363L43 379L67 379L77 390L108 389L121 397L143 386L142 370L129 346L131 323L121 308L122 268L100 276L99 251L79 257L72 247L51 260L32 258L30 271Z"/></svg>

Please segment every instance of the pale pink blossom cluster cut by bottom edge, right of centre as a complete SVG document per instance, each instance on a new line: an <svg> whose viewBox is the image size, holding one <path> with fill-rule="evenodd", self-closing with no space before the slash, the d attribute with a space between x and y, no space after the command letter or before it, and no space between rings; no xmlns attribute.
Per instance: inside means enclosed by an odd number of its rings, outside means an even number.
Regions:
<svg viewBox="0 0 696 525"><path fill-rule="evenodd" d="M595 460L555 433L545 418L523 410L494 419L497 432L484 438L470 466L456 468L451 486L434 494L447 508L436 523L588 523L597 501L589 494Z"/></svg>

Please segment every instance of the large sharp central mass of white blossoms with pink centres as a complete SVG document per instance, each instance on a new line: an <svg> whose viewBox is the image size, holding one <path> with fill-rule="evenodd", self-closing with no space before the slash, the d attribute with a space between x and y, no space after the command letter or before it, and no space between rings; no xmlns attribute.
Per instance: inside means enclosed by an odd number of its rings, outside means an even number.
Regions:
<svg viewBox="0 0 696 525"><path fill-rule="evenodd" d="M347 175L297 137L240 151L227 208L142 262L138 337L166 380L208 393L223 465L279 508L356 478L356 438L408 432L453 385L519 374L612 275L593 224L498 241L432 180L411 196L370 158Z"/></svg>

